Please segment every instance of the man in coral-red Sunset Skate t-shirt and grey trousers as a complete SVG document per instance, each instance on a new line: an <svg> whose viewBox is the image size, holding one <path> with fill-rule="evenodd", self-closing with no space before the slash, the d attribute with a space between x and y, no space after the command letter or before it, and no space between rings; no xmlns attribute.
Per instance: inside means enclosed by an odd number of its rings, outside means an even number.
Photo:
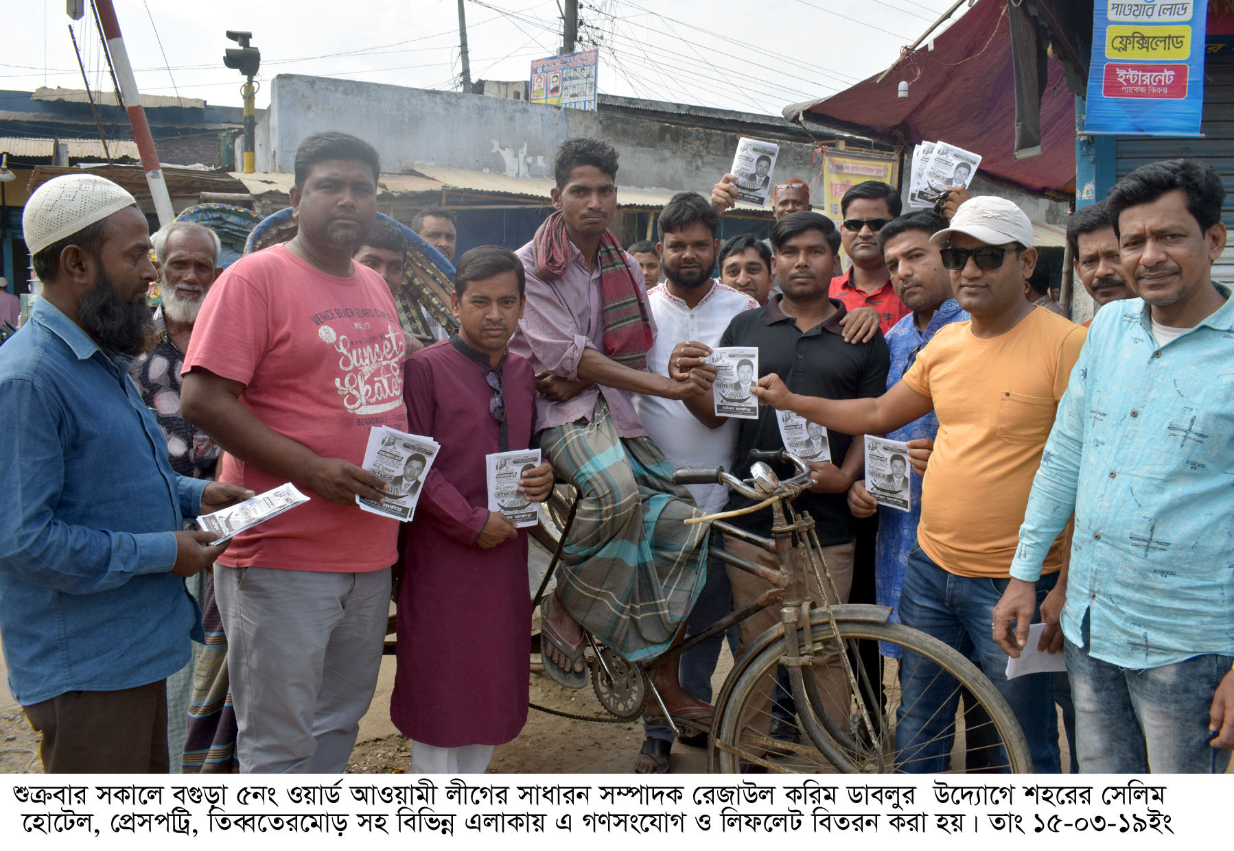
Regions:
<svg viewBox="0 0 1234 851"><path fill-rule="evenodd" d="M352 254L376 221L378 153L346 133L296 150L288 243L206 295L181 412L223 448L222 481L311 500L243 532L215 567L243 773L341 773L376 686L399 522L362 512L369 429L407 429L407 344L390 289Z"/></svg>

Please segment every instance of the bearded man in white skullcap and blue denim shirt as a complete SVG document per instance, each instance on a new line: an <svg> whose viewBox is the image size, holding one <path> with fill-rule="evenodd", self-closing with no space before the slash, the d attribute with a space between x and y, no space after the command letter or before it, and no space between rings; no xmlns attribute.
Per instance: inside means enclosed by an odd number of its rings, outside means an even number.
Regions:
<svg viewBox="0 0 1234 851"><path fill-rule="evenodd" d="M43 282L0 348L0 634L46 772L165 772L165 680L201 620L184 578L226 546L185 517L251 491L185 479L128 377L155 273L133 196L90 174L22 215Z"/></svg>

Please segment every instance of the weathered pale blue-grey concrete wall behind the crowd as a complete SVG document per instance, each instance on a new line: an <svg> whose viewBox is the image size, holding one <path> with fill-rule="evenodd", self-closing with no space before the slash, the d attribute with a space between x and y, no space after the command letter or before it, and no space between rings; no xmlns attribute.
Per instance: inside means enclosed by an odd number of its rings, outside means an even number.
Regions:
<svg viewBox="0 0 1234 851"><path fill-rule="evenodd" d="M552 176L561 141L598 136L621 154L622 185L708 196L732 166L738 138L603 111L280 74L270 83L270 107L258 123L257 170L294 171L296 146L326 130L371 142L384 170L428 163L521 178ZM813 146L780 143L776 181L810 181L818 169Z"/></svg>

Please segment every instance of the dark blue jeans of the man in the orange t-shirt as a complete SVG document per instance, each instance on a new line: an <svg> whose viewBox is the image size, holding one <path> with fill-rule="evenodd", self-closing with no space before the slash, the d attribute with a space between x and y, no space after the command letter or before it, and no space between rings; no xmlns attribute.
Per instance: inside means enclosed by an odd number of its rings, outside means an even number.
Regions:
<svg viewBox="0 0 1234 851"><path fill-rule="evenodd" d="M1040 606L1058 581L1058 574L1037 582L1033 622L1041 618ZM1007 680L1007 654L995 644L993 610L1008 580L971 578L949 574L921 546L908 554L905 585L900 596L900 618L905 625L933 635L959 650L965 659L976 651L981 668L1011 705L1033 757L1037 773L1060 772L1059 724L1054 709L1054 675L1029 673ZM900 681L903 696L896 724L896 750L901 771L939 773L949 768L955 713L960 691L954 677L934 662L905 650ZM997 760L1004 762L1004 758Z"/></svg>

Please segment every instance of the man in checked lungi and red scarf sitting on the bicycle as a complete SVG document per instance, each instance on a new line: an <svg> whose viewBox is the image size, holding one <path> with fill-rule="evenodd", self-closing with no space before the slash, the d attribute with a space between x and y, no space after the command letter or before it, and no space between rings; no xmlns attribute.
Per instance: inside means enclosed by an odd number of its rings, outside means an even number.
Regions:
<svg viewBox="0 0 1234 851"><path fill-rule="evenodd" d="M696 396L714 368L694 359L675 377L648 371L655 319L643 271L608 231L617 210L613 147L566 139L554 175L557 210L517 252L527 303L510 350L537 370L543 458L582 496L557 591L544 602L542 646L545 671L584 688L582 628L632 661L659 656L706 578L706 524L682 523L701 512L673 483L632 395ZM675 664L656 668L653 683L674 718L710 724L711 707L681 689Z"/></svg>

